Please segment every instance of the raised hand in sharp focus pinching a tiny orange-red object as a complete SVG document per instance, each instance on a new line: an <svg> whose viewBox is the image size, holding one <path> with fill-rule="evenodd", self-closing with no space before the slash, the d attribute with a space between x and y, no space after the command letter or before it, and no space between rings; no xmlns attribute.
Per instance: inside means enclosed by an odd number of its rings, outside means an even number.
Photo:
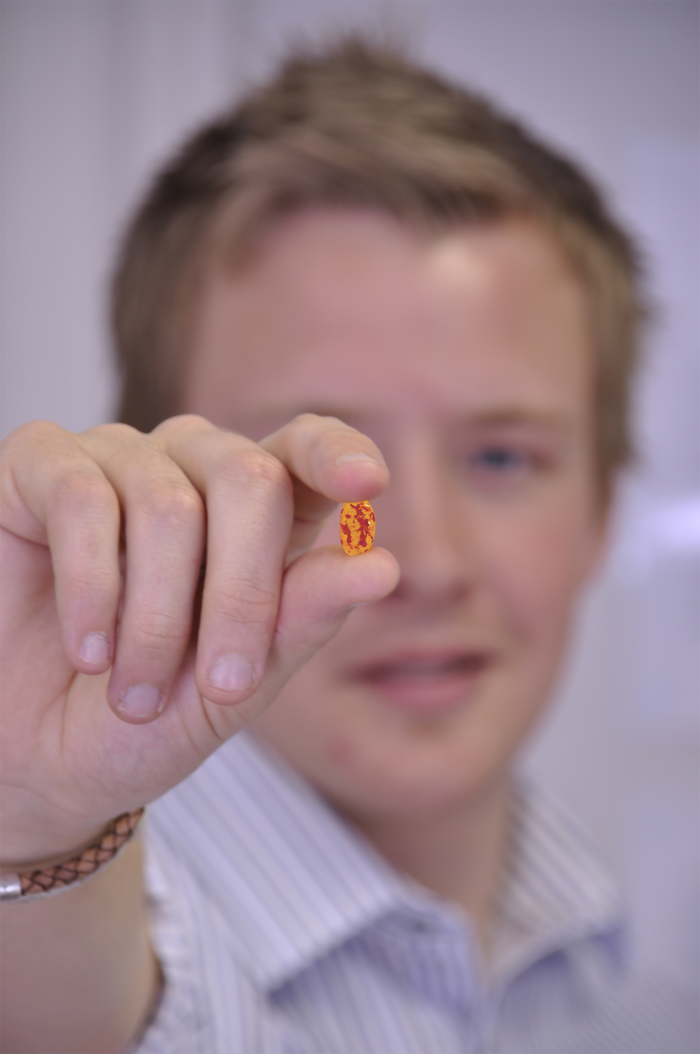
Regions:
<svg viewBox="0 0 700 1054"><path fill-rule="evenodd" d="M260 444L190 415L8 436L3 863L63 855L184 779L390 592L386 550L312 549L337 502L387 483L371 440L313 414Z"/></svg>

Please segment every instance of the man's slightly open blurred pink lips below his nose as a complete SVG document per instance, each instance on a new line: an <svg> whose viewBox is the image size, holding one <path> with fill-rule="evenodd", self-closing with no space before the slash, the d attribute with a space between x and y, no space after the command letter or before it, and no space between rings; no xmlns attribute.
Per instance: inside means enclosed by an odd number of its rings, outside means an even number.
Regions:
<svg viewBox="0 0 700 1054"><path fill-rule="evenodd" d="M441 714L468 702L493 661L485 651L403 655L368 664L355 680L393 707L413 714Z"/></svg>

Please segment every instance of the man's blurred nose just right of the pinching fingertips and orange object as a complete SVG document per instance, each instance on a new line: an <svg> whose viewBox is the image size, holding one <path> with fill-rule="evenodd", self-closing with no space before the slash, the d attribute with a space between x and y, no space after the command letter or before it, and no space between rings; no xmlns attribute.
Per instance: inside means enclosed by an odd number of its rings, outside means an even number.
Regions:
<svg viewBox="0 0 700 1054"><path fill-rule="evenodd" d="M394 601L452 605L474 588L478 531L464 485L439 438L416 424L392 444L391 482L373 503L377 541L401 566Z"/></svg>

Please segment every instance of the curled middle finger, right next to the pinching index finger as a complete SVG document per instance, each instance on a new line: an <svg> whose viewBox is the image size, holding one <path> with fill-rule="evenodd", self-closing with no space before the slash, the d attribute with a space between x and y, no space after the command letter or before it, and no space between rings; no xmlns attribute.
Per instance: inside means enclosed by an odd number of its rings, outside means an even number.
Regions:
<svg viewBox="0 0 700 1054"><path fill-rule="evenodd" d="M238 703L265 671L292 526L292 483L273 454L200 417L173 418L153 436L207 505L197 687L211 702Z"/></svg>

